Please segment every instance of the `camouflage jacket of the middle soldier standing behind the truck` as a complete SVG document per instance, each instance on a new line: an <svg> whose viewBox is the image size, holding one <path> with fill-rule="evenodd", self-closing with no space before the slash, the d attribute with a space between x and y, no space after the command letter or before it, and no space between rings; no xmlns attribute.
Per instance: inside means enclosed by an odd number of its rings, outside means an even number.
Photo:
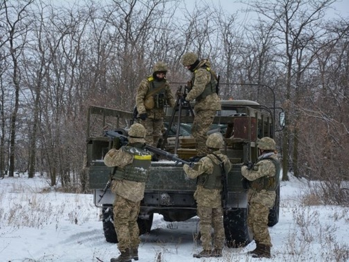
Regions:
<svg viewBox="0 0 349 262"><path fill-rule="evenodd" d="M231 169L231 163L228 157L223 155L221 151L215 151L213 153L222 159L224 162L225 171L228 174L229 170ZM191 179L196 179L198 176L203 174L212 174L214 168L213 162L219 164L218 159L209 154L206 157L201 158L198 163L195 163L193 168L190 168L188 165L184 165L183 169L188 177ZM198 185L194 193L194 198L196 203L200 206L218 208L222 206L221 191L222 190L220 189L207 189L202 185Z"/></svg>

